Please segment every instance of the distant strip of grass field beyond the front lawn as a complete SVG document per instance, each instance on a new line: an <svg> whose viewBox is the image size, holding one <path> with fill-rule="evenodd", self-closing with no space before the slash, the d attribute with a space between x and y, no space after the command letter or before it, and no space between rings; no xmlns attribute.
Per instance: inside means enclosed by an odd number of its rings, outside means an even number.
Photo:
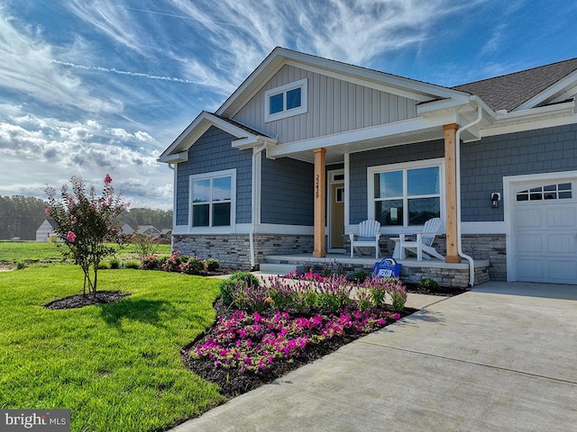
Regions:
<svg viewBox="0 0 577 432"><path fill-rule="evenodd" d="M158 245L157 247L159 255L170 255L170 245ZM0 241L0 263L13 263L25 259L60 259L62 258L60 248L67 249L63 244L57 247L53 243L48 242ZM138 257L136 247L132 244L124 245L118 253L118 257Z"/></svg>

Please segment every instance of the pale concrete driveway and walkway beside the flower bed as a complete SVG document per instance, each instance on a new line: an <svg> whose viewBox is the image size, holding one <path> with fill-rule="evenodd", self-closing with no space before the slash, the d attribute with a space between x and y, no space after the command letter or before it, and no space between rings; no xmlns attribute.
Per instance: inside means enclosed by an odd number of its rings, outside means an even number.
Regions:
<svg viewBox="0 0 577 432"><path fill-rule="evenodd" d="M577 285L487 283L188 420L188 431L577 431Z"/></svg>

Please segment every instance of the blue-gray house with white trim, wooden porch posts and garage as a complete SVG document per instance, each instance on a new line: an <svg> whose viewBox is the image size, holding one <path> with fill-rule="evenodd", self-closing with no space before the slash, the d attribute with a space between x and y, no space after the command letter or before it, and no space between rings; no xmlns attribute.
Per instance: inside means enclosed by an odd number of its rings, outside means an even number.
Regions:
<svg viewBox="0 0 577 432"><path fill-rule="evenodd" d="M375 219L390 253L440 217L447 265L576 284L575 94L577 58L448 88L276 48L160 155L173 247L250 268Z"/></svg>

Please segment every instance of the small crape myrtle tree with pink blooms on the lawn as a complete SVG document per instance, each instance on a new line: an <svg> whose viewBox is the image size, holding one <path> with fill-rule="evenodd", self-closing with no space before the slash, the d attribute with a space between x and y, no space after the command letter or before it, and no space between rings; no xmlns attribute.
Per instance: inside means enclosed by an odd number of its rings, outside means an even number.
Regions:
<svg viewBox="0 0 577 432"><path fill-rule="evenodd" d="M87 187L78 176L71 177L70 184L72 191L68 184L61 187L60 199L56 189L50 186L45 189L48 195L46 215L56 222L55 231L68 247L64 253L84 272L83 294L91 293L96 297L98 265L116 252L117 248L109 243L122 243L118 215L128 203L122 202L122 193L114 194L110 175L105 176L100 195L96 194L94 186Z"/></svg>

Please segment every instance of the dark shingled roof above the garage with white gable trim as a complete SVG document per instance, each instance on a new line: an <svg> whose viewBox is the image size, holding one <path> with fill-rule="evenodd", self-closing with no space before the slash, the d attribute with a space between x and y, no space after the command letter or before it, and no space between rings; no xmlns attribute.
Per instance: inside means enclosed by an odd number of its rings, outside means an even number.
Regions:
<svg viewBox="0 0 577 432"><path fill-rule="evenodd" d="M571 94L568 93L569 89L575 94L576 85L577 58L572 58L508 75L456 85L453 89L480 96L494 111L510 112L562 102L563 94L565 96Z"/></svg>

